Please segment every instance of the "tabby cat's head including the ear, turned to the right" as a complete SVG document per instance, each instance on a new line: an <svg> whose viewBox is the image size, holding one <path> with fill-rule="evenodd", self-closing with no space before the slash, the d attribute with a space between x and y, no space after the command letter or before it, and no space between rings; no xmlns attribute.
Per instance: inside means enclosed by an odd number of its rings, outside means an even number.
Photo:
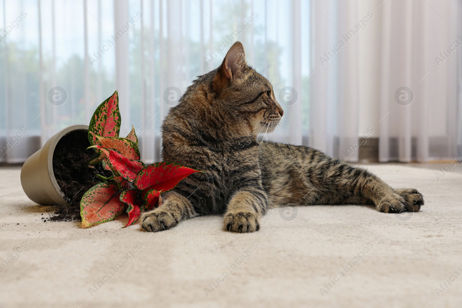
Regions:
<svg viewBox="0 0 462 308"><path fill-rule="evenodd" d="M284 114L271 83L246 64L240 42L234 43L226 54L213 88L227 112L247 125L255 136L274 131Z"/></svg>

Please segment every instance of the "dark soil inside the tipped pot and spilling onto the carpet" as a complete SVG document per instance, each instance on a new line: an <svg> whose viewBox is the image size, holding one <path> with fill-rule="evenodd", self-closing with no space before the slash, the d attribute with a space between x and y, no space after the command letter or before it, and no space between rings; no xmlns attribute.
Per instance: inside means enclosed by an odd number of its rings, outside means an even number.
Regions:
<svg viewBox="0 0 462 308"><path fill-rule="evenodd" d="M52 221L80 220L80 199L92 186L101 182L97 174L109 177L108 170L103 170L101 164L89 168L88 162L96 156L90 146L88 133L76 130L64 135L58 142L53 153L53 172L62 192L66 195L69 205L56 206Z"/></svg>

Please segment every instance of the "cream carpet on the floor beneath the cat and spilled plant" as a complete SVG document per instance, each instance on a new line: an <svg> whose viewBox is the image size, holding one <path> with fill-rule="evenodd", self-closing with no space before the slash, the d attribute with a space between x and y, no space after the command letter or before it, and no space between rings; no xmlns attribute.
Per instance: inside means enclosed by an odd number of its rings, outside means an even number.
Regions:
<svg viewBox="0 0 462 308"><path fill-rule="evenodd" d="M153 234L121 229L127 217L80 229L43 223L52 207L27 199L18 167L0 169L0 307L462 307L462 174L366 168L425 191L421 211L273 209L252 234L219 216Z"/></svg>

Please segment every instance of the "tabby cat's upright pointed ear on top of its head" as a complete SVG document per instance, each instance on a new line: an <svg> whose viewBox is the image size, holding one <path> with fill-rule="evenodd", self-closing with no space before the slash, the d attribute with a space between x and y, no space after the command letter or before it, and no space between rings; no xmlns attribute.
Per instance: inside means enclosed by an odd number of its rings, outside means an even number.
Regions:
<svg viewBox="0 0 462 308"><path fill-rule="evenodd" d="M233 84L240 78L246 67L244 47L241 42L235 42L218 67L213 79L213 89L219 93L223 87Z"/></svg>

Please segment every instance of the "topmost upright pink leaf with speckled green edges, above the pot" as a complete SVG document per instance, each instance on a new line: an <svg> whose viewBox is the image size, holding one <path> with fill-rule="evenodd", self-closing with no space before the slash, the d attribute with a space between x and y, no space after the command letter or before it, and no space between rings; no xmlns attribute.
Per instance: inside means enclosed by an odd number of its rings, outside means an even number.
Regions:
<svg viewBox="0 0 462 308"><path fill-rule="evenodd" d="M120 132L119 96L117 91L101 103L91 117L88 127L88 140L91 145L99 142L96 136L118 137Z"/></svg>

